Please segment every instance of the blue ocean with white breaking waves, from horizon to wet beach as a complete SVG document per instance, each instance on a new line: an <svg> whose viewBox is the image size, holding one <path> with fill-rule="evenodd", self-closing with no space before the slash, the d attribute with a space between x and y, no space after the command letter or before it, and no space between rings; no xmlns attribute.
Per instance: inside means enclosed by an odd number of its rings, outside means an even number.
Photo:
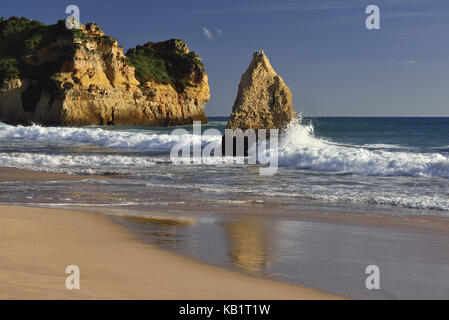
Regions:
<svg viewBox="0 0 449 320"><path fill-rule="evenodd" d="M449 214L449 118L304 118L279 141L279 169L231 161L173 164L170 150L189 139L221 141L226 118L211 118L216 135L171 135L173 128L57 128L0 124L0 166L70 174L125 174L107 184L0 184L0 202L145 208L155 204L276 203L288 208ZM191 126L182 127L192 131ZM202 139L202 140L200 140ZM55 186L56 185L56 186ZM91 196L92 191L97 195ZM107 194L101 197L98 194ZM352 209L348 209L352 208Z"/></svg>

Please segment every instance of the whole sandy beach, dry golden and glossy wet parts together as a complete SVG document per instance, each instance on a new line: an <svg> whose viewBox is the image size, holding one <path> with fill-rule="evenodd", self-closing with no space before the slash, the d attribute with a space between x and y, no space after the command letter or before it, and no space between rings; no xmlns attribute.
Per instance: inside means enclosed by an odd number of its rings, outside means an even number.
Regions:
<svg viewBox="0 0 449 320"><path fill-rule="evenodd" d="M120 176L0 168L0 182L86 178ZM0 207L0 298L449 297L448 218L307 210L292 216L275 204L226 205L211 214L208 207L193 207L190 213L170 207L185 212L184 220L164 206L146 211L150 217L130 217L126 210L124 218L122 209L100 210L113 213L112 221L98 213ZM98 210L82 210L90 209ZM65 289L64 271L70 264L81 268L80 291ZM382 269L380 291L366 291L368 264Z"/></svg>

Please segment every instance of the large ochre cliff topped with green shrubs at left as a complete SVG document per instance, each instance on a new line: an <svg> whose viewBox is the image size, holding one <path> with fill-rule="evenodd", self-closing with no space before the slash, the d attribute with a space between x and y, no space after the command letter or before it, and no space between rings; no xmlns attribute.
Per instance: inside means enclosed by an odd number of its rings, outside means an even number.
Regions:
<svg viewBox="0 0 449 320"><path fill-rule="evenodd" d="M0 22L0 121L44 125L207 123L208 77L184 41L125 55L95 23L68 30L26 18Z"/></svg>

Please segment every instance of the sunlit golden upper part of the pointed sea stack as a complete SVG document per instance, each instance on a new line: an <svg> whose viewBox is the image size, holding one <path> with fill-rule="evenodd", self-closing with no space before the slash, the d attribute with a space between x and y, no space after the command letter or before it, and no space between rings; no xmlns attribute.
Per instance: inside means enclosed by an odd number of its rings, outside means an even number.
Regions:
<svg viewBox="0 0 449 320"><path fill-rule="evenodd" d="M242 75L228 129L282 129L296 117L290 89L264 52L254 52Z"/></svg>

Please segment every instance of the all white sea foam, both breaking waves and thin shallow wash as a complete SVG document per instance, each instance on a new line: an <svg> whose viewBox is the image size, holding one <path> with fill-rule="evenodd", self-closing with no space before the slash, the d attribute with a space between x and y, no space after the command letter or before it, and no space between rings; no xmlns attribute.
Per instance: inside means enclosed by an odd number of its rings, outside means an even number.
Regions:
<svg viewBox="0 0 449 320"><path fill-rule="evenodd" d="M184 136L172 136L170 131L155 130L106 130L103 128L45 128L38 125L29 127L9 126L0 123L0 146L10 150L16 141L20 141L15 151L0 152L0 167L17 167L29 170L61 172L61 173L88 173L101 174L107 172L141 174L143 181L135 181L135 184L155 188L185 188L192 189L191 192L202 194L215 194L220 201L234 201L226 199L226 195L242 193L255 194L258 197L264 196L267 201L273 199L303 198L305 200L319 200L325 202L363 202L382 205L393 205L416 209L438 209L449 211L449 199L444 190L447 188L447 180L439 178L449 178L449 157L441 152L419 153L417 149L406 148L400 145L390 144L369 144L350 145L339 144L323 138L318 138L314 134L312 125L291 124L281 136L279 142L279 165L290 169L282 173L286 175L286 180L281 174L279 184L267 181L267 184L237 184L232 185L227 180L235 178L235 174L242 174L242 181L251 180L251 176L258 170L237 169L233 162L235 158L209 158L205 163L215 166L223 164L226 167L212 168L211 170L192 169L187 172L194 172L201 177L215 175L223 183L213 179L196 180L187 179L187 183L180 174L186 173L184 167L172 166L168 170L159 171L162 165L171 164L169 151L175 144L189 144L192 140L203 143L221 143L221 135L216 136L194 136L186 134ZM43 145L44 152L32 150L27 151L27 146L34 148ZM107 149L107 153L67 153L67 145L93 145ZM50 146L50 147L48 147ZM53 148L54 146L54 148ZM59 147L58 147L59 146ZM37 149L41 150L41 149ZM131 154L128 151L161 151L156 156L147 156L147 153ZM126 151L127 153L123 153ZM145 156L143 156L145 155ZM195 159L193 159L195 160ZM203 159L204 160L204 159ZM199 163L199 162L197 162ZM186 164L181 164L185 166ZM151 169L150 169L151 168ZM318 172L338 172L348 173L343 175L343 180L335 184L333 180L325 180L326 174L313 172L309 176L303 173L311 169ZM169 172L173 170L173 172ZM245 176L246 172L248 176ZM290 172L293 172L291 175ZM356 175L372 175L378 177L352 177ZM159 180L163 176L164 179ZM333 174L332 174L333 175ZM167 177L174 177L167 180ZM338 175L337 175L338 176ZM385 177L389 176L389 177ZM393 177L406 176L406 177ZM408 178L407 176L420 176L420 178ZM421 178L422 177L422 178ZM430 179L429 179L430 177ZM324 179L325 184L315 183ZM434 179L438 178L438 179ZM153 180L152 180L153 179ZM275 177L274 179L277 179ZM370 188L360 187L359 180L368 181ZM410 183L413 182L416 183ZM418 181L419 180L419 181ZM90 180L86 180L89 182ZM343 181L343 183L341 183ZM407 182L404 184L404 181ZM277 181L276 181L277 182ZM329 182L329 184L328 184ZM345 183L348 184L345 184ZM438 182L435 184L434 182ZM45 182L50 184L52 182ZM56 183L56 182L55 182ZM63 184L63 182L57 182ZM92 180L95 184L108 184L107 181ZM121 183L121 182L115 182ZM134 186L131 179L126 179L123 183L127 187ZM1 183L0 187L8 190L8 184ZM348 187L347 187L348 186ZM242 189L243 188L243 189ZM12 188L9 188L12 189ZM189 191L190 192L190 191ZM221 199L225 197L225 199ZM142 203L147 199L142 199ZM241 201L241 200L237 200ZM243 201L243 200L242 200ZM245 200L246 201L246 200ZM250 201L250 200L248 200ZM303 200L300 200L303 201ZM139 202L140 203L140 202ZM167 202L169 203L169 202ZM126 205L129 205L128 203Z"/></svg>

